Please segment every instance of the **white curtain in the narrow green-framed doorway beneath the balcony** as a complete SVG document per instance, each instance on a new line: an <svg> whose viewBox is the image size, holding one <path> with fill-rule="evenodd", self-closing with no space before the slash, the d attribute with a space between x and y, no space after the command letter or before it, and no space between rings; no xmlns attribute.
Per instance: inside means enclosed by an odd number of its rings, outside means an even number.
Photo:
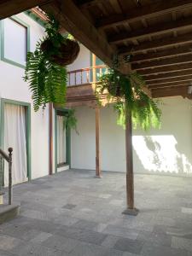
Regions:
<svg viewBox="0 0 192 256"><path fill-rule="evenodd" d="M66 129L64 116L57 115L57 164L66 163Z"/></svg>

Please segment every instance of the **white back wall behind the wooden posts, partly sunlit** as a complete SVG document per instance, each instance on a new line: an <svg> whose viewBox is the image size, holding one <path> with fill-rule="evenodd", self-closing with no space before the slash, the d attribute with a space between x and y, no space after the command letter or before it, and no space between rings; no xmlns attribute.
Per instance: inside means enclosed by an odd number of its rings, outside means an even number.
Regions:
<svg viewBox="0 0 192 256"><path fill-rule="evenodd" d="M192 103L180 96L163 99L160 130L134 131L134 172L192 175ZM72 167L95 169L95 111L78 108L79 135L72 134ZM101 110L102 170L125 172L125 131L113 108Z"/></svg>

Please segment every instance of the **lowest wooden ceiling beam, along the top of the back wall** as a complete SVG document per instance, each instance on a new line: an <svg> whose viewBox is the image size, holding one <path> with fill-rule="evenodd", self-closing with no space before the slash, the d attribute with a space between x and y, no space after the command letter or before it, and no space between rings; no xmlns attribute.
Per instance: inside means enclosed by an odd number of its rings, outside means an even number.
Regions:
<svg viewBox="0 0 192 256"><path fill-rule="evenodd" d="M167 96L183 96L190 97L188 95L188 85L187 86L177 86L173 88L162 88L152 90L152 95L154 98L167 97Z"/></svg>

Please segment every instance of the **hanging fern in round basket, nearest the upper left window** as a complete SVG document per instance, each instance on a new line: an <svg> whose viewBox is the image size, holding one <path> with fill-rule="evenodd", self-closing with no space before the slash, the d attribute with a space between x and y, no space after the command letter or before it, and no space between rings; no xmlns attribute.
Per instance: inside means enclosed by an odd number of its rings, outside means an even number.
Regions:
<svg viewBox="0 0 192 256"><path fill-rule="evenodd" d="M67 90L66 65L79 55L79 44L59 32L60 24L49 15L46 36L36 45L34 52L27 53L24 80L32 91L34 110L46 103L54 102L64 106Z"/></svg>

